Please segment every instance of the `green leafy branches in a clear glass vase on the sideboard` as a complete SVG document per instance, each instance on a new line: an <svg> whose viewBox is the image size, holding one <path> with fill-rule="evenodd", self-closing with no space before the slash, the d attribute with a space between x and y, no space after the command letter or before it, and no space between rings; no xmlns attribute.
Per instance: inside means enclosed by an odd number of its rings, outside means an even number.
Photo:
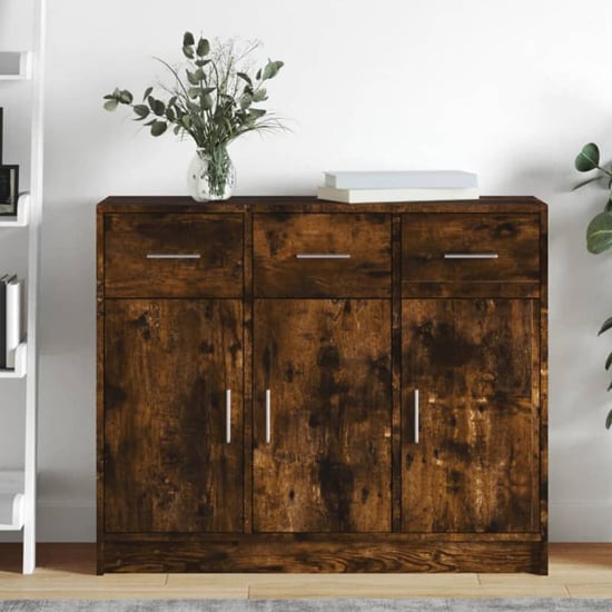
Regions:
<svg viewBox="0 0 612 612"><path fill-rule="evenodd" d="M258 42L227 40L211 48L206 38L196 42L191 32L185 32L184 70L156 58L172 77L171 86L160 86L164 99L148 87L142 101L135 102L131 91L116 88L103 97L103 108L131 107L135 120L148 126L152 136L172 128L176 135L193 138L196 155L187 175L190 196L198 201L227 199L235 181L227 146L249 131L283 128L279 119L260 108L268 99L266 81L276 77L283 62L268 60L253 73L250 57L258 47Z"/></svg>

